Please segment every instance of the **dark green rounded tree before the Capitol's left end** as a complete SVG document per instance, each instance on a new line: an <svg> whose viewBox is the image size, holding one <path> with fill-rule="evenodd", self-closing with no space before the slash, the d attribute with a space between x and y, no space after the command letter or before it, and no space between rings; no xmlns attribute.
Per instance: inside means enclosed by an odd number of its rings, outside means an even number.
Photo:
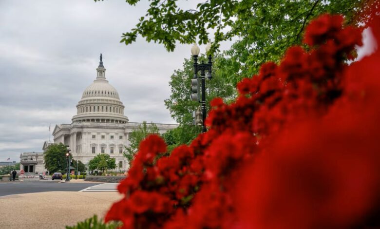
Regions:
<svg viewBox="0 0 380 229"><path fill-rule="evenodd" d="M45 169L47 169L50 174L66 170L66 153L67 148L62 143L50 145L43 156Z"/></svg>

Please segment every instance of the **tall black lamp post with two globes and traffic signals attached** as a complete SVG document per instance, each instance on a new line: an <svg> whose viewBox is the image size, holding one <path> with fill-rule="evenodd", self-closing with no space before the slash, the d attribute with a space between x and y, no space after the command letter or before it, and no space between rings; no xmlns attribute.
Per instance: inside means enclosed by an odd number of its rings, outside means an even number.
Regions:
<svg viewBox="0 0 380 229"><path fill-rule="evenodd" d="M208 43L206 46L206 53L209 52L211 47L211 44ZM191 99L193 101L198 101L201 103L201 109L202 109L202 133L207 132L205 120L206 120L206 79L205 79L205 73L207 72L207 77L209 79L212 79L211 76L211 67L212 67L212 61L211 61L211 55L209 55L209 62L204 63L202 62L198 64L198 55L199 55L199 47L194 44L194 46L191 47L191 55L194 58L194 77L191 79ZM198 96L198 71L201 71L201 100L199 100Z"/></svg>

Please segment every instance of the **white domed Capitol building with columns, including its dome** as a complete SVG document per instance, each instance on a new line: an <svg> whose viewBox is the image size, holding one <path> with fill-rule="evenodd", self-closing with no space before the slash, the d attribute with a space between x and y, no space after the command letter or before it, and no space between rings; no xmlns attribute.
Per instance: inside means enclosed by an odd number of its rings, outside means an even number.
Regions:
<svg viewBox="0 0 380 229"><path fill-rule="evenodd" d="M80 160L86 167L97 154L107 153L116 159L115 170L125 171L129 165L123 155L124 147L130 144L129 134L142 123L129 122L128 117L124 115L125 107L120 101L119 93L106 79L106 69L101 55L96 72L94 83L84 90L82 98L76 105L77 111L72 123L56 125L54 128L54 143L68 145L74 159ZM178 126L156 125L160 134ZM52 143L46 141L43 150L46 151ZM33 155L37 155L39 161L31 157ZM43 153L22 153L20 159L21 169L25 172L42 173L45 170ZM28 166L29 168L26 168Z"/></svg>

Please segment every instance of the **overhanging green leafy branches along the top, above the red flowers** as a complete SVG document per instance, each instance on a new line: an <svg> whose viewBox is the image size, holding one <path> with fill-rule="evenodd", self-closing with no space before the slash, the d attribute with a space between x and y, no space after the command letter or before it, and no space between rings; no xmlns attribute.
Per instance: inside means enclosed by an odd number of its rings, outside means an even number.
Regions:
<svg viewBox="0 0 380 229"><path fill-rule="evenodd" d="M95 0L99 1L99 0ZM135 5L139 0L126 0ZM302 43L305 25L322 13L342 14L347 23L362 24L355 15L369 0L149 0L145 16L122 35L120 42L133 43L137 36L164 44L173 51L176 42L206 44L210 53L219 43L237 38L224 53L221 74L233 84L257 74L266 61L278 61L286 48ZM377 0L376 0L377 1ZM213 34L211 34L213 33Z"/></svg>

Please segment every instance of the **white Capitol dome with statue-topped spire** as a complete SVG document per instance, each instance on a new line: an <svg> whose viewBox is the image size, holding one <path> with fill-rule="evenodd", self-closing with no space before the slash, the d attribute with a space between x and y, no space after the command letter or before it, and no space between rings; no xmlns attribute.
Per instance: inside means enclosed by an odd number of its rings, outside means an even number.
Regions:
<svg viewBox="0 0 380 229"><path fill-rule="evenodd" d="M106 79L106 69L101 54L96 72L94 83L84 90L82 98L76 105L77 113L73 116L73 122L128 122L119 94Z"/></svg>

